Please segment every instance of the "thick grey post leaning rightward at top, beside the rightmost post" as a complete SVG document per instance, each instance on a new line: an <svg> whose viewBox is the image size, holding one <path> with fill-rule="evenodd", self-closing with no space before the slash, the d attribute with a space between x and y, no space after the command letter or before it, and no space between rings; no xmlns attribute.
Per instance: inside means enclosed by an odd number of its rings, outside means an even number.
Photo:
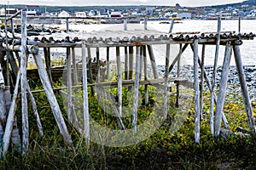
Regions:
<svg viewBox="0 0 256 170"><path fill-rule="evenodd" d="M219 90L218 90L218 100L217 100L216 111L215 111L214 136L216 137L219 135L221 119L223 117L222 112L224 108L224 99L225 99L227 81L229 76L230 58L231 58L231 45L230 45L230 42L227 42L227 45L225 48L223 68L221 73L221 80L220 80Z"/></svg>

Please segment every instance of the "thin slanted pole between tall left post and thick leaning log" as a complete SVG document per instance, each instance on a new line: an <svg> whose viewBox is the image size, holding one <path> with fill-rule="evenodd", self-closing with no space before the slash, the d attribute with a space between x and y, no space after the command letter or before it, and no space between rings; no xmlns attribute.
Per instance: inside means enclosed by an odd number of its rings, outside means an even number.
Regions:
<svg viewBox="0 0 256 170"><path fill-rule="evenodd" d="M27 93L29 95L30 101L32 102L32 110L33 110L34 116L36 117L36 120L37 120L39 134L40 134L40 136L44 136L42 123L40 121L40 116L38 114L36 99L34 98L34 96L32 94L32 91L31 91L31 88L29 87L28 82L26 82L26 89L27 89Z"/></svg>

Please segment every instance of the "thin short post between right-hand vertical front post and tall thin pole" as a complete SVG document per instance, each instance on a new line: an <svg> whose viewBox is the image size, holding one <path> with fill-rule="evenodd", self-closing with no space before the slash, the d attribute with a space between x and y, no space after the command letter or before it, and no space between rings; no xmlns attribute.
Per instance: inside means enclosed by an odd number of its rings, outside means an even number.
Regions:
<svg viewBox="0 0 256 170"><path fill-rule="evenodd" d="M202 45L202 52L201 52L201 80L200 80L200 116L201 119L203 118L202 112L203 112L203 92L204 92L204 71L205 71L205 55L206 55L206 44L204 43ZM210 119L211 121L211 119ZM211 124L211 122L210 122ZM212 131L211 131L212 132Z"/></svg>

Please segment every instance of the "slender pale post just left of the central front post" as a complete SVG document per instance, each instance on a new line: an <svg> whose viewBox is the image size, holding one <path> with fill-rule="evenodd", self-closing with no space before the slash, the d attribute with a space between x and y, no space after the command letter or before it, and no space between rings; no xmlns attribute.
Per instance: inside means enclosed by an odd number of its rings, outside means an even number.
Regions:
<svg viewBox="0 0 256 170"><path fill-rule="evenodd" d="M118 108L119 115L122 116L122 66L120 59L120 48L116 47L116 60L117 60L117 70L118 70Z"/></svg>

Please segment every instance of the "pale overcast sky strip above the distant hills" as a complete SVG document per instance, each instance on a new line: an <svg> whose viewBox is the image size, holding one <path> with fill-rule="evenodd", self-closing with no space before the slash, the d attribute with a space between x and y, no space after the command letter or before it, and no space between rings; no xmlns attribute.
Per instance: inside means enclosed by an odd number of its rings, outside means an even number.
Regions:
<svg viewBox="0 0 256 170"><path fill-rule="evenodd" d="M92 6L92 5L170 5L194 7L218 5L226 3L241 3L242 0L0 0L0 4L37 4L55 6Z"/></svg>

